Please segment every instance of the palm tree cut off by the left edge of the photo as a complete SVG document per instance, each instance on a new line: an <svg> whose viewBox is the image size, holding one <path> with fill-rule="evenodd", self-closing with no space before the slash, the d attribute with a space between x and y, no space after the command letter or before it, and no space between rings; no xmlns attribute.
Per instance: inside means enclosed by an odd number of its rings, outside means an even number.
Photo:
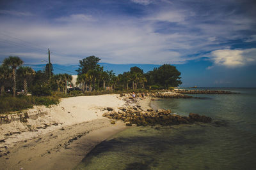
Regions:
<svg viewBox="0 0 256 170"><path fill-rule="evenodd" d="M6 66L0 66L0 87L1 87L1 96L4 95L4 85L8 82L11 75L11 69Z"/></svg>

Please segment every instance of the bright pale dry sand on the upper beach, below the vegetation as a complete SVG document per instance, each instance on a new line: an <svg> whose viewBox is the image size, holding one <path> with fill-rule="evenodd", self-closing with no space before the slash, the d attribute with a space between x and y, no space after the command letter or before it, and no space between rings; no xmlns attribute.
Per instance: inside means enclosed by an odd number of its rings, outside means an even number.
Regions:
<svg viewBox="0 0 256 170"><path fill-rule="evenodd" d="M124 101L122 97L118 97L116 94L64 98L61 99L58 106L52 106L51 108L35 106L23 112L28 112L29 116L41 114L36 120L29 118L26 124L15 121L10 124L0 125L0 140L5 139L6 141L5 143L0 143L0 149L3 145L12 146L13 142L45 134L67 125L103 118L102 114L106 111L104 108L111 107L116 109L120 106L124 106ZM45 124L51 125L54 123L58 123L58 125L52 125L46 129L38 129L38 132L30 131L30 129L37 129L38 127L45 127ZM22 133L12 135L12 138L8 138L4 135L10 132Z"/></svg>

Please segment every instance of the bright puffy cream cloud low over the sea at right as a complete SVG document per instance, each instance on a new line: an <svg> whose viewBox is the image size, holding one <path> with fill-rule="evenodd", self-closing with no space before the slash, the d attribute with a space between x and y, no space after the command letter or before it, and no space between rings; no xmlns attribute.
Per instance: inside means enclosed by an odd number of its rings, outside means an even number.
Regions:
<svg viewBox="0 0 256 170"><path fill-rule="evenodd" d="M256 60L256 48L246 50L215 50L211 52L215 64L227 67L240 67Z"/></svg>

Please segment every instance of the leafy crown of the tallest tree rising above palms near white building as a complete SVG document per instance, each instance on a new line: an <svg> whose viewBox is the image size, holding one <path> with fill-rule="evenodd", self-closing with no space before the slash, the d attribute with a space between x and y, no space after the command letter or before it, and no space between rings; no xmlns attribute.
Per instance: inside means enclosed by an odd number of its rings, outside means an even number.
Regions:
<svg viewBox="0 0 256 170"><path fill-rule="evenodd" d="M87 73L89 70L96 69L98 62L100 61L99 57L95 57L94 55L90 57L86 57L83 60L79 60L79 69L77 69L78 74Z"/></svg>

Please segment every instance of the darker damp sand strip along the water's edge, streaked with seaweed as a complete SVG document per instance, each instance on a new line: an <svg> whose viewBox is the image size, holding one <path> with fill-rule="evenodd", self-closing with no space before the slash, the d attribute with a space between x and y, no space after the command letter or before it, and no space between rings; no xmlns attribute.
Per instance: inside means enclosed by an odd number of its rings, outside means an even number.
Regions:
<svg viewBox="0 0 256 170"><path fill-rule="evenodd" d="M0 169L73 169L96 145L126 128L102 118L56 129L16 143L8 159L0 158Z"/></svg>

